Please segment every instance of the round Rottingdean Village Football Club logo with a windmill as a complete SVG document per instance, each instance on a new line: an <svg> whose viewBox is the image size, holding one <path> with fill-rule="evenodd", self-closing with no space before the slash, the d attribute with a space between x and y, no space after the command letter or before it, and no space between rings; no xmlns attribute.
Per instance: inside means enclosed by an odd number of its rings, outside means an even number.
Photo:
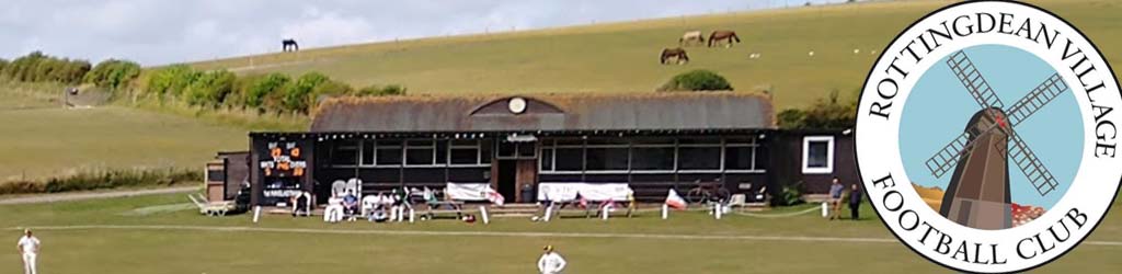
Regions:
<svg viewBox="0 0 1122 274"><path fill-rule="evenodd" d="M908 247L965 272L1067 253L1118 194L1118 80L1097 48L1029 4L965 2L883 52L857 112L862 181Z"/></svg>

